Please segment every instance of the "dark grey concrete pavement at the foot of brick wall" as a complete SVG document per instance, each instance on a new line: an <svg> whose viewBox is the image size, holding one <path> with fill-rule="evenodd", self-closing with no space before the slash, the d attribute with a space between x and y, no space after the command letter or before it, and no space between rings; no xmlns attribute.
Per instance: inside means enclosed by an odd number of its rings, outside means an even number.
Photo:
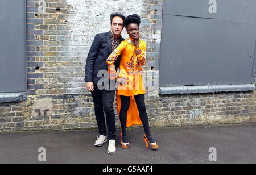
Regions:
<svg viewBox="0 0 256 175"><path fill-rule="evenodd" d="M146 148L143 128L127 130L130 149L109 155L108 142L95 147L92 130L0 132L0 163L256 163L256 124L151 128L158 151ZM38 161L38 149L46 148L46 161ZM209 161L209 148L217 161Z"/></svg>

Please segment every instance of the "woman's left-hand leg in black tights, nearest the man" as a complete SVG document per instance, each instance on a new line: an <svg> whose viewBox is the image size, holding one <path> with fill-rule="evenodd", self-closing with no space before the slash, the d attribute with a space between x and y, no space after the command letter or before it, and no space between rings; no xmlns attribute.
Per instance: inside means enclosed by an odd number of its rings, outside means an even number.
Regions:
<svg viewBox="0 0 256 175"><path fill-rule="evenodd" d="M121 98L121 109L119 114L121 129L122 129L122 142L128 143L127 135L126 135L126 120L127 120L127 111L130 106L130 97L126 97L120 95Z"/></svg>

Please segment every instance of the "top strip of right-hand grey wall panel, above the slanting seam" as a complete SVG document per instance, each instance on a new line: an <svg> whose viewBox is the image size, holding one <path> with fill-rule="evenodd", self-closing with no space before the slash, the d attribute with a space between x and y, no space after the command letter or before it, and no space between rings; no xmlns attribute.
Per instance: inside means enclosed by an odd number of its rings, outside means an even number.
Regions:
<svg viewBox="0 0 256 175"><path fill-rule="evenodd" d="M165 0L164 14L256 22L255 0L216 0L217 13L209 13L209 0Z"/></svg>

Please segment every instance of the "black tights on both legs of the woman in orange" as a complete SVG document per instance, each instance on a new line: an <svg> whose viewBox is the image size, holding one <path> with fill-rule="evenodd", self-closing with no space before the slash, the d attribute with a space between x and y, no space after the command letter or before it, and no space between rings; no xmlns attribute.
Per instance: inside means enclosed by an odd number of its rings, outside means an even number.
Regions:
<svg viewBox="0 0 256 175"><path fill-rule="evenodd" d="M121 123L121 129L122 129L122 136L126 136L126 120L127 120L127 111L129 110L130 105L130 97L126 97L123 95L120 95L121 98L121 110L119 114L119 119ZM145 105L145 94L141 95L135 95L134 99L136 101L137 108L139 110L139 118L142 121L145 134L150 140L151 143L154 143L154 140L151 137L150 127L148 124L148 116L146 112L146 105ZM127 137L122 137L123 143L127 143Z"/></svg>

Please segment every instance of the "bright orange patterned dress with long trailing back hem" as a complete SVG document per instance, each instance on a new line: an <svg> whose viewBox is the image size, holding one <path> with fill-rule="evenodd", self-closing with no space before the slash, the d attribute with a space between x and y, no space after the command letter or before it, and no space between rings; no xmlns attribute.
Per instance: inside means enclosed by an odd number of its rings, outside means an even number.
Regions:
<svg viewBox="0 0 256 175"><path fill-rule="evenodd" d="M137 50L137 53L135 52ZM121 55L122 54L122 55ZM114 62L121 55L119 76L115 71ZM130 37L122 41L122 43L111 53L106 60L109 70L109 78L118 77L127 78L127 85L119 85L117 88L117 111L118 115L121 109L120 95L131 97L129 110L127 111L126 127L133 125L141 125L139 111L134 99L134 95L145 94L145 88L141 77L141 66L146 62L146 43L140 40L139 48L134 45L133 39Z"/></svg>

